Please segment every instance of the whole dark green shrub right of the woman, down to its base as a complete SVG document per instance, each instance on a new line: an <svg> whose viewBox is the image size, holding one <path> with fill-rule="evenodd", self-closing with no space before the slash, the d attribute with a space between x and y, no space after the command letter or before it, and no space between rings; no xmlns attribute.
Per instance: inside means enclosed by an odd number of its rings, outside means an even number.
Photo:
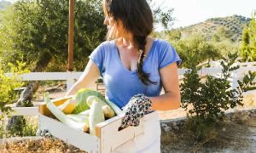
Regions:
<svg viewBox="0 0 256 153"><path fill-rule="evenodd" d="M237 54L229 54L221 62L222 77L198 75L198 67L192 67L184 75L181 84L182 107L188 111L189 120L185 127L192 133L190 139L195 143L207 142L218 137L218 128L224 119L224 111L242 104L242 93L256 89L256 72L251 72L238 81L239 86L232 88L229 77L239 66L233 66Z"/></svg>

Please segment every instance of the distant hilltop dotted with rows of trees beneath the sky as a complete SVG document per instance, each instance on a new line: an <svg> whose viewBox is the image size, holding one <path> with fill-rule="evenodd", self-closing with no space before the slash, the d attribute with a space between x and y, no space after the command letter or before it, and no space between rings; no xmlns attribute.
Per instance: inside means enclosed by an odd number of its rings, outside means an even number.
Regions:
<svg viewBox="0 0 256 153"><path fill-rule="evenodd" d="M235 42L241 40L243 27L247 26L250 20L250 18L246 18L241 15L233 15L223 18L212 18L192 26L186 26L174 30L181 31L182 37L188 37L194 32L202 32L207 36L207 39L211 39L220 28L223 28L225 31L228 31L230 39Z"/></svg>

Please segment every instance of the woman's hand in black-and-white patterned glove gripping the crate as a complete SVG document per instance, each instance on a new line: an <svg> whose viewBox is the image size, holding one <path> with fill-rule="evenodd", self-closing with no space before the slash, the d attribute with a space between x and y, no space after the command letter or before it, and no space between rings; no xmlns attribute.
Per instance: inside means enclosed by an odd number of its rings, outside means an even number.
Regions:
<svg viewBox="0 0 256 153"><path fill-rule="evenodd" d="M125 112L125 116L120 127L138 126L140 119L153 111L152 102L144 94L137 94L125 105L123 111Z"/></svg>

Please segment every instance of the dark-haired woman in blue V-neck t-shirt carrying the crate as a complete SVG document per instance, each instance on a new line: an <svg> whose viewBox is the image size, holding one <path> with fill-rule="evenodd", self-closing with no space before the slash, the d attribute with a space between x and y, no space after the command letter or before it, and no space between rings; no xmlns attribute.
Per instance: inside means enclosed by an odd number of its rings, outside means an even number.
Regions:
<svg viewBox="0 0 256 153"><path fill-rule="evenodd" d="M102 76L106 97L125 111L123 128L137 126L139 119L151 111L177 109L177 65L181 59L169 42L149 37L153 16L146 0L104 0L103 10L108 41L90 54L83 75L67 95L91 87ZM143 135L113 152L160 152L158 116L145 122Z"/></svg>

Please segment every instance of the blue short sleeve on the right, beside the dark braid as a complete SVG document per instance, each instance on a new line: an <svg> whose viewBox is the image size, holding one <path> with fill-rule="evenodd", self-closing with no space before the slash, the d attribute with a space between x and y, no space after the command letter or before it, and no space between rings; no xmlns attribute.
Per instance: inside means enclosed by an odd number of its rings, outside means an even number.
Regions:
<svg viewBox="0 0 256 153"><path fill-rule="evenodd" d="M169 42L166 42L163 45L166 45L166 47L164 47L160 51L160 69L165 67L166 65L172 64L173 62L177 62L177 66L179 66L182 59L180 59L176 50Z"/></svg>

